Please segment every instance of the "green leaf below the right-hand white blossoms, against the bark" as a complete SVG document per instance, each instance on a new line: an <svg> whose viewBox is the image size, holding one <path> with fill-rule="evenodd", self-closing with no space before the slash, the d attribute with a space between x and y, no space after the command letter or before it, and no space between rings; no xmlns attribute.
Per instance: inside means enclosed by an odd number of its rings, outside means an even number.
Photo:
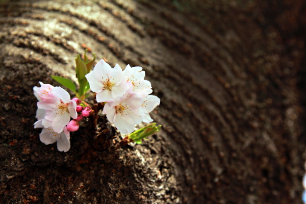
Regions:
<svg viewBox="0 0 306 204"><path fill-rule="evenodd" d="M129 139L135 141L137 144L141 144L141 139L159 132L161 130L161 126L162 125L156 126L156 122L148 124L134 133L131 133L129 135Z"/></svg>

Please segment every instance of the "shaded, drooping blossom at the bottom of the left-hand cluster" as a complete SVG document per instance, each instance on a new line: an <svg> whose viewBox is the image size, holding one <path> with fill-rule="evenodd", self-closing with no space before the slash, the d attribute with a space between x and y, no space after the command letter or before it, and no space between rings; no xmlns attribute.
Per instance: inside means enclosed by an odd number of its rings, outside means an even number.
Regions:
<svg viewBox="0 0 306 204"><path fill-rule="evenodd" d="M63 127L61 133L56 133L52 128L43 128L39 134L39 139L44 144L53 144L57 142L57 148L59 151L68 151L70 149L70 133L67 131L66 126Z"/></svg>

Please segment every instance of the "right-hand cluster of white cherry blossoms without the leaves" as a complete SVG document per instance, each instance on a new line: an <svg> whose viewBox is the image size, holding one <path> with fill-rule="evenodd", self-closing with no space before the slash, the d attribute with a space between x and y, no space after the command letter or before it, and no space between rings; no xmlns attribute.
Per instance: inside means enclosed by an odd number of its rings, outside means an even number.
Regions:
<svg viewBox="0 0 306 204"><path fill-rule="evenodd" d="M103 114L122 134L132 133L136 124L153 121L149 115L160 104L152 93L151 83L144 80L141 67L127 65L122 71L100 60L93 71L85 75L98 103L105 102Z"/></svg>

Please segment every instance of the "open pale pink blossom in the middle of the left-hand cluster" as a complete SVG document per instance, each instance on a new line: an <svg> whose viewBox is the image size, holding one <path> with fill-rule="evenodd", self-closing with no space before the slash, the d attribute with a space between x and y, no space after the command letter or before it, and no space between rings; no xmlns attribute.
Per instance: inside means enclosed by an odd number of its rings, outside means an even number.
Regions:
<svg viewBox="0 0 306 204"><path fill-rule="evenodd" d="M61 87L54 87L52 90L54 97L43 99L37 103L39 109L46 110L46 121L52 122L52 129L56 133L61 133L64 126L70 121L70 117L73 119L78 117L76 108L77 103L74 100L70 100L70 95Z"/></svg>

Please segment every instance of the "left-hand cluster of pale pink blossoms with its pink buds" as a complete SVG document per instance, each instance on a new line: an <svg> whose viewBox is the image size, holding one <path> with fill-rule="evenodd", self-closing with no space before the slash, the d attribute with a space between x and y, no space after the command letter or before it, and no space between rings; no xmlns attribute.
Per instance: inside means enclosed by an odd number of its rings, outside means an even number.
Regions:
<svg viewBox="0 0 306 204"><path fill-rule="evenodd" d="M82 114L78 116L77 110L80 110L78 104L81 103L78 98L70 100L69 93L63 88L39 83L40 87L33 88L34 95L39 100L34 127L42 128L39 134L41 142L44 144L57 142L58 150L66 152L70 148L70 132L79 129L79 126L75 129L75 125L70 124L73 121L70 121L70 118L80 121L83 112L88 116L87 111L82 107Z"/></svg>

